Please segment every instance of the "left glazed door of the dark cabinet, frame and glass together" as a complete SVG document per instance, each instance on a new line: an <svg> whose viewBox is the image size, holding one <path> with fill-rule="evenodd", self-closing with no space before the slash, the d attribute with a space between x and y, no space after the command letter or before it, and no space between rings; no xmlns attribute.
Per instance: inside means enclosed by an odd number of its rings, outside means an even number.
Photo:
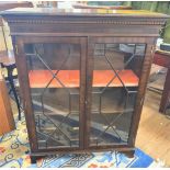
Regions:
<svg viewBox="0 0 170 170"><path fill-rule="evenodd" d="M33 150L82 148L86 39L21 37L18 48Z"/></svg>

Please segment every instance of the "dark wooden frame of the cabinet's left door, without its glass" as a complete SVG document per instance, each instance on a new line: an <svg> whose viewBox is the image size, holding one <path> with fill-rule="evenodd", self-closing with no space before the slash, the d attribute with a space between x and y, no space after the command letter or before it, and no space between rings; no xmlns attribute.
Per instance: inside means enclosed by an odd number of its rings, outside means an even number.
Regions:
<svg viewBox="0 0 170 170"><path fill-rule="evenodd" d="M23 105L26 118L26 127L29 133L29 140L31 145L31 152L42 151L75 151L82 150L84 146L84 103L86 103L86 57L87 57L87 37L68 37L68 36L13 36L13 46L15 53L15 60L18 67L18 75L20 81L21 94L23 98ZM80 44L80 113L79 113L79 147L52 147L39 149L37 144L37 134L35 129L35 118L32 109L31 88L29 81L29 72L26 66L26 55L24 53L24 44L32 43L69 43Z"/></svg>

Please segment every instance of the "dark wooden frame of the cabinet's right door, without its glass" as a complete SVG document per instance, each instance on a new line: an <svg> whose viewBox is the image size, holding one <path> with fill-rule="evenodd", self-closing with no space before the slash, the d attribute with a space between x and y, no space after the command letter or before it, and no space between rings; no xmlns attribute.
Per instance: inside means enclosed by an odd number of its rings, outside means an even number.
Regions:
<svg viewBox="0 0 170 170"><path fill-rule="evenodd" d="M87 149L110 149L110 148L122 148L122 147L134 147L135 146L135 138L138 129L138 124L140 120L141 109L144 104L144 98L145 98L145 91L147 87L147 80L150 72L150 67L152 63L152 46L156 42L156 37L133 37L133 36L126 36L126 37L120 37L120 36L113 36L113 37L100 37L100 36L91 36L88 38L88 57L87 57L87 95L86 95L86 132L87 132L87 138L86 138L86 148ZM124 144L117 144L117 145L103 145L103 146L90 146L90 111L91 111L91 93L92 93L92 71L93 71L93 49L95 43L136 43L136 44L146 44L145 48L145 55L144 60L141 65L141 75L139 78L138 83L138 90L137 90L137 97L136 102L134 105L134 113L132 115L132 122L129 127L129 134L128 134L128 140L127 145Z"/></svg>

